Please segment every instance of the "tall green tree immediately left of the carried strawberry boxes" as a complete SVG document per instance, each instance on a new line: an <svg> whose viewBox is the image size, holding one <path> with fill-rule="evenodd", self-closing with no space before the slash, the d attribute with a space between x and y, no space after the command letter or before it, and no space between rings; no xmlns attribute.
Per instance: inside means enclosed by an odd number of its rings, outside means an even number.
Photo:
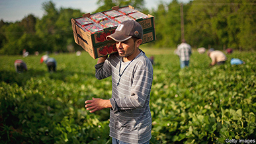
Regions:
<svg viewBox="0 0 256 144"><path fill-rule="evenodd" d="M36 34L50 52L67 52L67 46L75 44L71 18L81 17L80 10L56 9L52 1L42 4L45 15L36 23Z"/></svg>

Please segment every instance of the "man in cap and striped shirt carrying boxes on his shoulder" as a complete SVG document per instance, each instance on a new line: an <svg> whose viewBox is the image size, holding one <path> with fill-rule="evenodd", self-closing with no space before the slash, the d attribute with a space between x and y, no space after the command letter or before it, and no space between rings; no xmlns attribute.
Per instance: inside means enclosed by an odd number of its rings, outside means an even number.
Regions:
<svg viewBox="0 0 256 144"><path fill-rule="evenodd" d="M118 53L100 57L95 65L97 79L112 76L112 98L85 101L90 112L110 108L112 143L149 143L151 114L149 108L153 67L139 49L142 26L135 20L118 25L107 40L116 41Z"/></svg>

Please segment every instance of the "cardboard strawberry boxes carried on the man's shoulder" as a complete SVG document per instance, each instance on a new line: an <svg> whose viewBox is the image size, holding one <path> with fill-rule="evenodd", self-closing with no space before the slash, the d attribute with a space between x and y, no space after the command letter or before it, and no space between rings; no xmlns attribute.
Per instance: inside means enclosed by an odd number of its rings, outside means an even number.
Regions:
<svg viewBox="0 0 256 144"><path fill-rule="evenodd" d="M152 15L145 15L134 7L112 7L108 11L95 14L84 14L83 17L72 18L71 24L75 43L89 52L94 59L117 52L115 42L106 40L118 26L118 23L127 18L138 21L143 28L142 44L156 40L155 24ZM114 46L113 46L114 45Z"/></svg>

